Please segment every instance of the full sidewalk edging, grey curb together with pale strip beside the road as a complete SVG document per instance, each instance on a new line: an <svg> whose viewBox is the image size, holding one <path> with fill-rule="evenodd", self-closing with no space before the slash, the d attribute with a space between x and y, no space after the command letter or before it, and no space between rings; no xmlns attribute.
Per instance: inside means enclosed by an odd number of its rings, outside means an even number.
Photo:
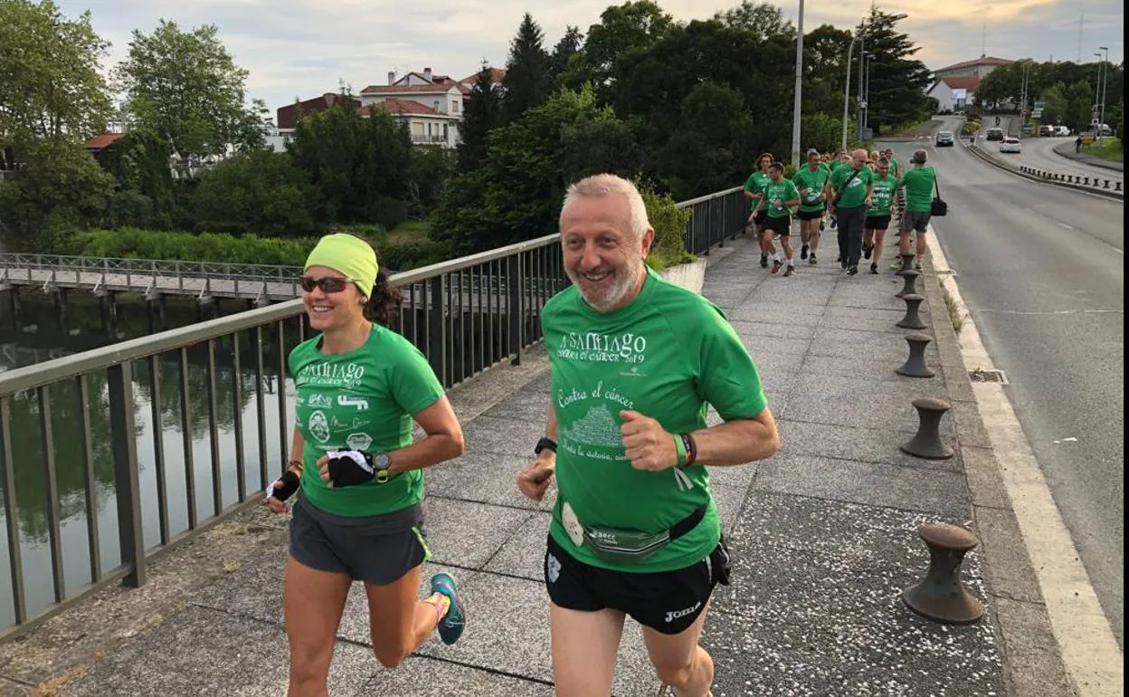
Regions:
<svg viewBox="0 0 1129 697"><path fill-rule="evenodd" d="M944 258L936 236L929 246L926 297L930 308L934 303L945 307L940 276L952 271L947 262L940 272L934 265L934 254ZM964 310L959 288L954 295ZM962 343L945 310L930 316L951 399L969 399L975 407L971 422L957 415L956 432L995 604L991 618L1003 642L1007 691L1023 697L1121 695L1121 651L1010 401L1001 385L973 387L969 380L968 371L981 367L978 360L994 367L975 322L966 315L963 331L970 334ZM947 367L952 357L956 371ZM990 434L988 415L994 416ZM983 447L970 446L978 438Z"/></svg>

